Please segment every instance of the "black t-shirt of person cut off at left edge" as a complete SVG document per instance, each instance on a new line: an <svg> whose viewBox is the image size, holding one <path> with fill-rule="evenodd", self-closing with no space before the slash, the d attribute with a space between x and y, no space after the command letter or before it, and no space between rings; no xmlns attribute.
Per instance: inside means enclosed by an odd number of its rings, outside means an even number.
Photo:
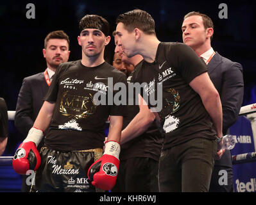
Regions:
<svg viewBox="0 0 256 205"><path fill-rule="evenodd" d="M0 138L6 138L8 135L8 112L3 98L0 97Z"/></svg>

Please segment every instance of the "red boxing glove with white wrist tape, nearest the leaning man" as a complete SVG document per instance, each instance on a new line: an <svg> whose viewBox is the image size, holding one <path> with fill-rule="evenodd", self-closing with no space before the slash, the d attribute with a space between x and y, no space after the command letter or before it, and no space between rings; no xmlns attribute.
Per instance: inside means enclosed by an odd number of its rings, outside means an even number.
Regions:
<svg viewBox="0 0 256 205"><path fill-rule="evenodd" d="M115 141L105 143L105 152L88 170L88 177L93 186L101 190L111 190L119 170L120 145Z"/></svg>

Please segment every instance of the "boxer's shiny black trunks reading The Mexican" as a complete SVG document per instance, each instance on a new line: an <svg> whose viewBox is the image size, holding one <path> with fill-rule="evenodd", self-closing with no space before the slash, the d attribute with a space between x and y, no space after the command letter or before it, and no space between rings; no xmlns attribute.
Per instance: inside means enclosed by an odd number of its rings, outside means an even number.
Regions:
<svg viewBox="0 0 256 205"><path fill-rule="evenodd" d="M102 149L60 152L42 147L30 192L101 192L87 177L90 165L101 156Z"/></svg>

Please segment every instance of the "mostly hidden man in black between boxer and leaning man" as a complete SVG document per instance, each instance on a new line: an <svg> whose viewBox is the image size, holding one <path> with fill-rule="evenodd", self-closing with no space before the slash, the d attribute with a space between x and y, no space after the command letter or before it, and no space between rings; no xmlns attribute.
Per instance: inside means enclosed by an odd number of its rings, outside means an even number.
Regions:
<svg viewBox="0 0 256 205"><path fill-rule="evenodd" d="M131 63L134 66L134 70L127 78L128 85L137 83L143 61L142 56L137 54L128 58L123 53L116 33L114 40L115 55L120 56L124 63ZM128 101L132 99L135 102L137 96L136 94L128 95L128 98ZM120 169L112 192L158 192L157 172L162 135L155 125L155 115L149 111L147 105L142 103L139 106L128 104L127 110L120 141ZM143 121L145 126L137 124L137 120Z"/></svg>

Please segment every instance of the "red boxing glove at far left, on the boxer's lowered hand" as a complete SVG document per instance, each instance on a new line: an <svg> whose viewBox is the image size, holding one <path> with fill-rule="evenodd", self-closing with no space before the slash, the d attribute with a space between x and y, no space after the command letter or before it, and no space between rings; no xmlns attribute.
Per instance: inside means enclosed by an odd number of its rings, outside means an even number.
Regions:
<svg viewBox="0 0 256 205"><path fill-rule="evenodd" d="M33 142L22 142L15 152L12 167L17 174L26 174L28 170L37 170L41 163L40 154Z"/></svg>

